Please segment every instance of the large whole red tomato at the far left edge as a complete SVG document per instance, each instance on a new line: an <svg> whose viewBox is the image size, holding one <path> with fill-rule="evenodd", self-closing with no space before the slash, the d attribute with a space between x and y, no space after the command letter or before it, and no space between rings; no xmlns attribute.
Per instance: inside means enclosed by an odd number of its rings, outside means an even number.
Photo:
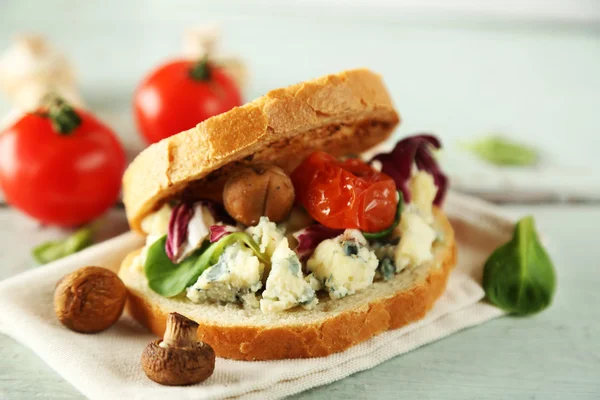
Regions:
<svg viewBox="0 0 600 400"><path fill-rule="evenodd" d="M72 109L70 109L73 112ZM11 205L44 224L76 226L119 196L125 153L92 115L59 134L52 120L27 114L0 133L0 187Z"/></svg>

